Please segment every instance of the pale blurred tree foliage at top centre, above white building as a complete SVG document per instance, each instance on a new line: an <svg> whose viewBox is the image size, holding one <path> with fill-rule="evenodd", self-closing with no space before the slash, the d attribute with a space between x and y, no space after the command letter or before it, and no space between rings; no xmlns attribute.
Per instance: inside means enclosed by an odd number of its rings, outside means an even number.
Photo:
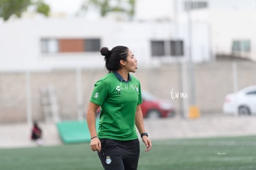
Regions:
<svg viewBox="0 0 256 170"><path fill-rule="evenodd" d="M82 10L86 11L91 6L98 8L102 17L114 11L121 11L133 17L135 0L87 0L83 3Z"/></svg>

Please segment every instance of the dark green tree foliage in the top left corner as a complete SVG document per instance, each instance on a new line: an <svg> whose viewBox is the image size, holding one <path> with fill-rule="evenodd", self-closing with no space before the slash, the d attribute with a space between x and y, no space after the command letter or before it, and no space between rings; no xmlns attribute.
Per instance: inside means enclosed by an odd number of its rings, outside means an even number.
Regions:
<svg viewBox="0 0 256 170"><path fill-rule="evenodd" d="M0 17L2 17L4 21L8 20L11 15L21 17L28 6L35 6L36 12L46 16L49 15L50 7L41 0L0 0Z"/></svg>

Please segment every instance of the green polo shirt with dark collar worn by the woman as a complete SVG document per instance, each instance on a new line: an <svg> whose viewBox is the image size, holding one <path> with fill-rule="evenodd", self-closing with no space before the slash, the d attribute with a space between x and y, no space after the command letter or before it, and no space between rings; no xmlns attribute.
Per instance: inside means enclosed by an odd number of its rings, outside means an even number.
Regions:
<svg viewBox="0 0 256 170"><path fill-rule="evenodd" d="M126 82L117 72L110 72L95 83L90 101L101 106L99 138L138 138L135 113L137 105L142 103L138 79L129 74Z"/></svg>

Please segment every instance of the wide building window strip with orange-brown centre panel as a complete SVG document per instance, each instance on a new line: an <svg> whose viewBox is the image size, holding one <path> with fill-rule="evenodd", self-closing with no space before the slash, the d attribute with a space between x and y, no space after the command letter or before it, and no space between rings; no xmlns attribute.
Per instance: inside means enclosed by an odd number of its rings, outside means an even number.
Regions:
<svg viewBox="0 0 256 170"><path fill-rule="evenodd" d="M100 39L42 38L41 53L85 53L100 51Z"/></svg>

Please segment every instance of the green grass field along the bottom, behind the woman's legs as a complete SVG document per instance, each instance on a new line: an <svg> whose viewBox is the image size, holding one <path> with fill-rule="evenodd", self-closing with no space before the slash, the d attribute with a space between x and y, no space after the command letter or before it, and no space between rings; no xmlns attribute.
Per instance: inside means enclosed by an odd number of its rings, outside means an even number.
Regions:
<svg viewBox="0 0 256 170"><path fill-rule="evenodd" d="M256 169L256 136L155 140L141 145L139 170ZM2 170L94 170L100 160L89 143L0 149Z"/></svg>

